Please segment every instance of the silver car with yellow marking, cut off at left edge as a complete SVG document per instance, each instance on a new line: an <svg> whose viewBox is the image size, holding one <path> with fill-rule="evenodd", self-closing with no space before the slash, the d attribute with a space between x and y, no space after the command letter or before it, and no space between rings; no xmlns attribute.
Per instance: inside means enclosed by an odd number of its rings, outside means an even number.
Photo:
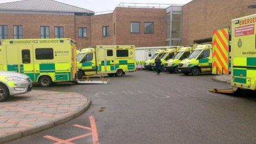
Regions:
<svg viewBox="0 0 256 144"><path fill-rule="evenodd" d="M28 93L32 90L32 82L28 76L17 72L0 71L0 102L10 95Z"/></svg>

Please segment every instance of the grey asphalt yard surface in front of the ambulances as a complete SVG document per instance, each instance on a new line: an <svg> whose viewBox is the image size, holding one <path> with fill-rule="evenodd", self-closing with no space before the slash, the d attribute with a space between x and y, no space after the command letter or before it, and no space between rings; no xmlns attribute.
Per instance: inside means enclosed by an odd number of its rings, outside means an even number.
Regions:
<svg viewBox="0 0 256 144"><path fill-rule="evenodd" d="M45 136L67 140L83 135L88 131L74 125L90 126L89 116L95 119L99 143L254 143L256 96L207 92L230 88L212 77L137 71L110 77L106 85L35 87L87 95L92 106L65 124L8 143L55 143ZM93 143L93 138L72 143Z"/></svg>

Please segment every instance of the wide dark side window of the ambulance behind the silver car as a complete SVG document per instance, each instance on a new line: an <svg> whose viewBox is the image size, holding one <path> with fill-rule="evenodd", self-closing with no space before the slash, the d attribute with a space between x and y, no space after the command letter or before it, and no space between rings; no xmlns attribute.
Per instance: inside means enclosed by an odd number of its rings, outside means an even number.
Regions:
<svg viewBox="0 0 256 144"><path fill-rule="evenodd" d="M52 60L54 59L54 49L52 48L42 48L35 49L36 60Z"/></svg>

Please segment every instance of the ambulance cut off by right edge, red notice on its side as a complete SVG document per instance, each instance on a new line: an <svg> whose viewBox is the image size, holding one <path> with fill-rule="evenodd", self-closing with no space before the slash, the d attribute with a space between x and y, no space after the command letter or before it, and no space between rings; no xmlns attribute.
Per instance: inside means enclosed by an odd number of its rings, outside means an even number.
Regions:
<svg viewBox="0 0 256 144"><path fill-rule="evenodd" d="M231 86L256 90L256 14L232 20Z"/></svg>

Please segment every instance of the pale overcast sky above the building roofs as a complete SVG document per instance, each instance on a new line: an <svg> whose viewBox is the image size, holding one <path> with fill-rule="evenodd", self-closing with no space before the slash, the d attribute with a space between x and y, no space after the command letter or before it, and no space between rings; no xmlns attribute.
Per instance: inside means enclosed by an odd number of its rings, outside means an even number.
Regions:
<svg viewBox="0 0 256 144"><path fill-rule="evenodd" d="M17 0L0 0L0 3L14 2ZM131 3L166 3L166 4L186 4L192 0L57 0L58 2L71 4L73 6L102 12L114 10L121 2Z"/></svg>

